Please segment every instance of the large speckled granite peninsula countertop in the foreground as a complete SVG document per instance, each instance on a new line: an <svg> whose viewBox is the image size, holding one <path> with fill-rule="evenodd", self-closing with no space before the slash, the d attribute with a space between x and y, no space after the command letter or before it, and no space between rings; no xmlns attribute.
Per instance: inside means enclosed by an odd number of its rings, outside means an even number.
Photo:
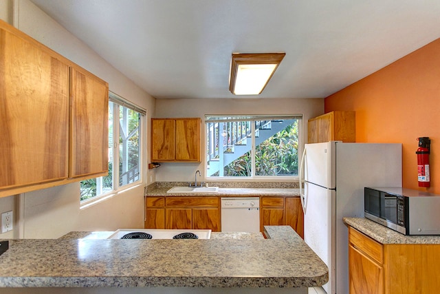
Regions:
<svg viewBox="0 0 440 294"><path fill-rule="evenodd" d="M293 288L327 282L327 266L292 228L266 231L272 239L232 234L210 240L99 240L104 232L82 239L10 240L0 256L0 287Z"/></svg>

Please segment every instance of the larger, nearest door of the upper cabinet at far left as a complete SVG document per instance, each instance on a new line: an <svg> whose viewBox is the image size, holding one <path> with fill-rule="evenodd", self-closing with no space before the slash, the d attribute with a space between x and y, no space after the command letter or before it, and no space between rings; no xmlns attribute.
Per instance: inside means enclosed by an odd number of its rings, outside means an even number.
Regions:
<svg viewBox="0 0 440 294"><path fill-rule="evenodd" d="M69 65L0 23L0 189L68 177Z"/></svg>

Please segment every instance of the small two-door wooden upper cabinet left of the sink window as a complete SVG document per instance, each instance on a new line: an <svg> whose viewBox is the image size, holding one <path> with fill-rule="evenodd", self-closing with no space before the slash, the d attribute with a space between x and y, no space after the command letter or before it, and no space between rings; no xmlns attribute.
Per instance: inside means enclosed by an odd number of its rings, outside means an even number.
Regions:
<svg viewBox="0 0 440 294"><path fill-rule="evenodd" d="M151 161L201 161L200 118L151 118Z"/></svg>

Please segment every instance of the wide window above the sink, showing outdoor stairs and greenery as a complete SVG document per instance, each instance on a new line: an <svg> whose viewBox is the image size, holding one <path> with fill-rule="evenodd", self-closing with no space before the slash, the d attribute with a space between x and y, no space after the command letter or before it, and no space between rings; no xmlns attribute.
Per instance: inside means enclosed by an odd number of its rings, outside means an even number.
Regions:
<svg viewBox="0 0 440 294"><path fill-rule="evenodd" d="M205 116L206 176L298 176L302 116Z"/></svg>

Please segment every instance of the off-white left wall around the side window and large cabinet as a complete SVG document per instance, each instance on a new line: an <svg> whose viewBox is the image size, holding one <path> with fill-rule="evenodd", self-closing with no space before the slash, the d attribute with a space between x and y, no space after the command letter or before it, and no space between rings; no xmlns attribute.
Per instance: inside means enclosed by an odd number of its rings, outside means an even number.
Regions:
<svg viewBox="0 0 440 294"><path fill-rule="evenodd" d="M115 70L98 54L67 32L29 0L0 0L0 17L66 56L109 83L109 90L147 110L144 123L154 114L155 99ZM8 11L5 13L5 11ZM11 16L12 14L12 16ZM149 138L145 125L144 143ZM143 151L143 170L149 154ZM144 186L149 178L144 172L143 185L115 195L98 204L80 209L79 183L0 198L0 212L14 208L14 231L0 238L58 238L69 231L115 230L144 226Z"/></svg>

